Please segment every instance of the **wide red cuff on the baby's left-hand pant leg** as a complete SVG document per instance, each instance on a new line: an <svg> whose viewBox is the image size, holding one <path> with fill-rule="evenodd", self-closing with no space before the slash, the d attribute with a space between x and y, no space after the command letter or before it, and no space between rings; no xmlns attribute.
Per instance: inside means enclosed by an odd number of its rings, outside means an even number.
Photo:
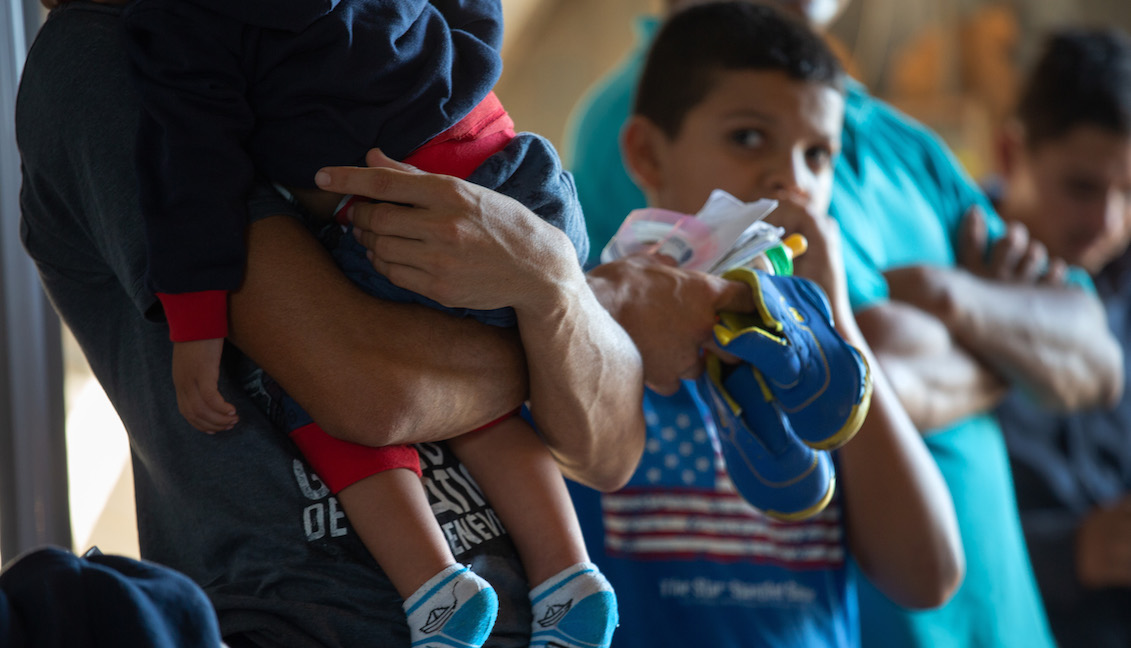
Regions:
<svg viewBox="0 0 1131 648"><path fill-rule="evenodd" d="M420 456L412 446L372 448L351 443L330 437L317 423L291 432L291 439L335 494L370 475L394 468L407 468L421 476Z"/></svg>

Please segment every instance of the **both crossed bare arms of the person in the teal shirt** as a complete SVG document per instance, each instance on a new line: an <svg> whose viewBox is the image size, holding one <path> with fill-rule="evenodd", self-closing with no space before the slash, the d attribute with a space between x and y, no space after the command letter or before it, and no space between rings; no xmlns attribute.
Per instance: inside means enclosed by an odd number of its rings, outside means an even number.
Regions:
<svg viewBox="0 0 1131 648"><path fill-rule="evenodd" d="M1117 399L1122 354L1095 296L1063 283L1062 261L1018 227L982 254L977 210L960 249L962 267L888 270L891 300L857 313L921 430L985 412L1013 385L1060 409Z"/></svg>

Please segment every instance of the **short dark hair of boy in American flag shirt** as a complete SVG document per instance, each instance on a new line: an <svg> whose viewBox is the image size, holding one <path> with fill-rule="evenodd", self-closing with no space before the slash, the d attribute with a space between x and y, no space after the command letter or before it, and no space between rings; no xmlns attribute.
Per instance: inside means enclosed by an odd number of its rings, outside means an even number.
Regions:
<svg viewBox="0 0 1131 648"><path fill-rule="evenodd" d="M836 55L800 19L765 5L710 2L675 12L661 27L632 112L675 137L716 74L733 70L780 70L844 92Z"/></svg>

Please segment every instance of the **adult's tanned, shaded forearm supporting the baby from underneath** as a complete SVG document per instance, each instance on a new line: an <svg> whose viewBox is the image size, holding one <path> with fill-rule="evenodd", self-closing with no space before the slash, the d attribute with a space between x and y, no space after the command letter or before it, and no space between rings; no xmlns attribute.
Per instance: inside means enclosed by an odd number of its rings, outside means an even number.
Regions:
<svg viewBox="0 0 1131 648"><path fill-rule="evenodd" d="M512 329L366 295L290 217L253 223L230 338L331 435L434 441L523 403L525 358Z"/></svg>

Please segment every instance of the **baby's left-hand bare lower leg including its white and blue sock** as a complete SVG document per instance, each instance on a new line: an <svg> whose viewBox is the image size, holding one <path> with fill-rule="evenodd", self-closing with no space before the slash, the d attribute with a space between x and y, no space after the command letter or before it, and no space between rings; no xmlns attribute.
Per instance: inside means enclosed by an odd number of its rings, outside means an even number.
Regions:
<svg viewBox="0 0 1131 648"><path fill-rule="evenodd" d="M429 639L473 647L486 641L499 598L485 580L456 563L414 472L377 473L343 489L338 501L405 599L414 646Z"/></svg>

